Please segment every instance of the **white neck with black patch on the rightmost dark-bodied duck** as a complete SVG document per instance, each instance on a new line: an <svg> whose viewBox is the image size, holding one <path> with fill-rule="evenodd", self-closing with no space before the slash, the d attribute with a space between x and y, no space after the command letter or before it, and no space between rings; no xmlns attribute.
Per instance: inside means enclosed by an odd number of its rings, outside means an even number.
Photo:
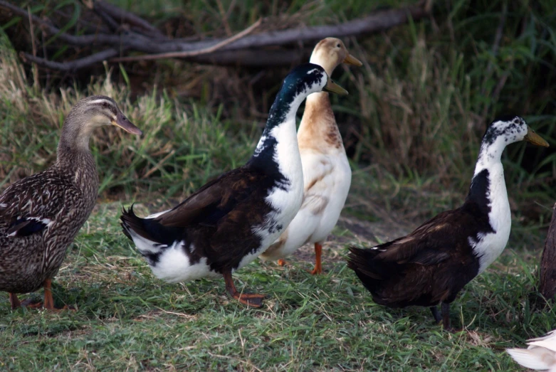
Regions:
<svg viewBox="0 0 556 372"><path fill-rule="evenodd" d="M495 231L498 230L499 223L511 223L508 191L500 160L504 149L503 137L498 137L490 143L483 139L466 198L466 201L475 202L483 213L488 214L491 227Z"/></svg>

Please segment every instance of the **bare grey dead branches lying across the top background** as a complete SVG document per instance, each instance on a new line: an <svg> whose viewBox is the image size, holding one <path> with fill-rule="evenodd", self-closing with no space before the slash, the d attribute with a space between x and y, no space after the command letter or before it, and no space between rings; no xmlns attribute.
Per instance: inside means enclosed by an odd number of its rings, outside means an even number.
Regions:
<svg viewBox="0 0 556 372"><path fill-rule="evenodd" d="M28 16L25 10L19 8L18 6L9 4L4 0L0 0L0 9L1 8L8 9L13 14L25 18ZM125 20L130 24L142 28L144 31L148 31L150 36L137 33L135 31L126 31L125 28L122 27L117 28L116 31L120 32L120 34L116 35L94 33L73 36L68 33L61 33L60 29L53 26L50 21L31 15L29 17L29 21L40 26L44 33L57 35L61 41L64 41L71 46L105 46L107 48L100 53L95 53L89 57L67 63L52 62L38 57L29 58L29 55L24 55L26 60L33 61L38 65L51 68L53 70L70 71L79 68L86 68L95 63L99 63L101 62L99 58L105 55L115 57L119 53L121 55L122 51L126 51L126 53L135 51L147 54L140 56L123 56L122 58L117 58L113 61L184 58L202 63L210 62L221 65L288 64L286 61L296 60L298 55L275 58L278 53L269 52L266 48L269 46L299 45L319 40L327 36L342 38L346 36L360 36L368 33L377 33L394 26L398 26L399 24L406 23L409 18L416 21L428 14L424 3L421 3L416 6L408 6L402 9L377 11L364 18L347 21L338 25L294 28L282 31L266 31L248 35L248 33L251 33L251 31L253 31L253 29L259 24L257 22L250 28L247 28L245 31L242 31L231 38L214 38L204 41L191 41L190 38L169 39L162 36L162 33L159 31L156 32L156 35L152 36L155 28L147 23L147 21L130 14L129 12L123 11L116 6L106 4L103 1L95 1L93 8L97 9L98 14L103 14L103 20L112 29L115 26L112 21ZM115 53L115 51L118 52ZM272 58L266 58L265 55L267 53L273 55ZM300 54L292 52L291 50L287 52L282 51L282 53Z"/></svg>

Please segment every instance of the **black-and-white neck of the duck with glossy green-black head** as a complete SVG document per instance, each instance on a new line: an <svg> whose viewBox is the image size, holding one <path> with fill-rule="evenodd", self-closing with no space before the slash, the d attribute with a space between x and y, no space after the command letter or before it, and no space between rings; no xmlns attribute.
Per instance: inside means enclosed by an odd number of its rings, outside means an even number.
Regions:
<svg viewBox="0 0 556 372"><path fill-rule="evenodd" d="M306 95L293 98L288 90L280 90L274 101L263 135L248 164L265 173L285 177L288 182L303 182L301 157L295 132L295 113Z"/></svg>

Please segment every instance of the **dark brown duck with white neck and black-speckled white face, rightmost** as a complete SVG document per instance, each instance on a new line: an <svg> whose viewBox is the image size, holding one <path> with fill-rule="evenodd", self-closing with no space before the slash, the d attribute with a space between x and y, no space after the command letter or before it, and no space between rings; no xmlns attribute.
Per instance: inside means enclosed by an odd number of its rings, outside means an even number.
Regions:
<svg viewBox="0 0 556 372"><path fill-rule="evenodd" d="M519 116L488 125L463 205L426 221L412 233L370 249L350 247L347 266L374 302L387 307L430 307L450 330L450 304L458 292L502 253L511 213L500 156L525 140L548 143ZM441 304L441 314L437 306Z"/></svg>

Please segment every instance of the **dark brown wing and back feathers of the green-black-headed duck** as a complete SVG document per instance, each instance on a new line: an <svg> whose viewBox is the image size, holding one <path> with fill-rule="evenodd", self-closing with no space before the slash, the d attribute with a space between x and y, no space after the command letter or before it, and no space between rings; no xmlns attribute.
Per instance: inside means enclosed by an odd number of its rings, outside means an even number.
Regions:
<svg viewBox="0 0 556 372"><path fill-rule="evenodd" d="M285 228L268 220L273 207L266 197L274 187L276 176L247 165L209 182L158 218L137 218L124 211L122 222L154 242L182 242L190 262L206 258L211 270L224 272L260 248L261 236L253 230L263 225L268 230ZM155 265L157 257L150 260Z"/></svg>

